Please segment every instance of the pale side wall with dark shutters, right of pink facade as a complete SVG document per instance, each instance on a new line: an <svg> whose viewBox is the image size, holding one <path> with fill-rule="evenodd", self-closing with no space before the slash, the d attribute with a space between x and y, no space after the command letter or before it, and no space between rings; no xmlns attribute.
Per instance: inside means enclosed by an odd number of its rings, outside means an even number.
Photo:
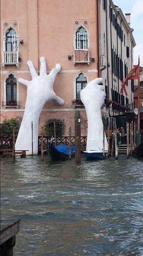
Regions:
<svg viewBox="0 0 143 256"><path fill-rule="evenodd" d="M128 80L126 90L120 94L121 84L133 68L133 48L135 40L130 28L130 14L123 14L112 0L101 0L101 35L99 35L99 53L101 77L104 81L106 97L115 104L108 105L103 112L107 116L123 114L125 110L118 104L133 106L132 81ZM114 106L113 106L114 105ZM105 110L106 109L106 110Z"/></svg>

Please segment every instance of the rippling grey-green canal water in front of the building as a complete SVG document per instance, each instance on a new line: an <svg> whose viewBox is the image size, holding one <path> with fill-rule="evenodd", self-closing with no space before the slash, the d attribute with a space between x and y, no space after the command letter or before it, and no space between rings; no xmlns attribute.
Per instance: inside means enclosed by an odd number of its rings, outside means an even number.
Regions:
<svg viewBox="0 0 143 256"><path fill-rule="evenodd" d="M143 159L1 157L8 217L21 219L14 256L142 256Z"/></svg>

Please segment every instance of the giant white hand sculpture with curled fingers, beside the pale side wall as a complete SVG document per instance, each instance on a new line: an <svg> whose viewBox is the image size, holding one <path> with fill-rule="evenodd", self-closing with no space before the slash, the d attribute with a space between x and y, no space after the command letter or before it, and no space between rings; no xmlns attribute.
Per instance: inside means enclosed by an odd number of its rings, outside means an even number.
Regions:
<svg viewBox="0 0 143 256"><path fill-rule="evenodd" d="M81 90L80 98L85 106L88 120L87 146L86 150L97 150L102 152L103 149L103 122L101 116L101 107L104 104L106 93L102 83L102 78L96 78L89 82ZM105 150L108 150L107 138L105 135Z"/></svg>

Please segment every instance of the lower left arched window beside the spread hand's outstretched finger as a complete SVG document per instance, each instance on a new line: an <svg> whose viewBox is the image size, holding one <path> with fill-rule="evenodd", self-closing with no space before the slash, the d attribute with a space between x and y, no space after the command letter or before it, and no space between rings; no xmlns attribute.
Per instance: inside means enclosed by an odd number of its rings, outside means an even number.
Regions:
<svg viewBox="0 0 143 256"><path fill-rule="evenodd" d="M6 79L6 102L17 101L17 79L10 74Z"/></svg>

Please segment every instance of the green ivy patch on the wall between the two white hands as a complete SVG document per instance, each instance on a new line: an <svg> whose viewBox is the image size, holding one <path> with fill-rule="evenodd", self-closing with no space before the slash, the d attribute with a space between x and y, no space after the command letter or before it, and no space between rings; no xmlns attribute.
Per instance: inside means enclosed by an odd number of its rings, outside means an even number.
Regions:
<svg viewBox="0 0 143 256"><path fill-rule="evenodd" d="M54 136L54 122L55 122L56 136L62 137L65 132L65 123L64 123L64 120L56 119L56 118L49 119L46 121L46 124L44 125L45 135Z"/></svg>

